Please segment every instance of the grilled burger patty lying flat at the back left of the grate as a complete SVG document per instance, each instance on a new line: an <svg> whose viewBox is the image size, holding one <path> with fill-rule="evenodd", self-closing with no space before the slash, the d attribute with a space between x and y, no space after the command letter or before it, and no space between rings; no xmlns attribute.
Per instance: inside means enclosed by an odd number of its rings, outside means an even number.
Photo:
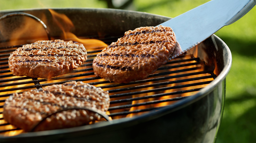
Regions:
<svg viewBox="0 0 256 143"><path fill-rule="evenodd" d="M16 76L50 78L73 71L86 59L81 43L40 40L16 49L9 57L9 68Z"/></svg>

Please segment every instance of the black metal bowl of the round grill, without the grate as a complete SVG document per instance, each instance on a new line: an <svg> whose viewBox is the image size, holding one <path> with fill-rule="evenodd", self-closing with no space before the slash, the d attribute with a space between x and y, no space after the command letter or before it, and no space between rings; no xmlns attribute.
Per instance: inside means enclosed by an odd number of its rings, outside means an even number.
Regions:
<svg viewBox="0 0 256 143"><path fill-rule="evenodd" d="M156 26L170 19L160 15L116 9L60 8L54 10L71 19L75 25L72 32L77 36L117 37L122 36L127 30L140 26ZM12 12L29 13L39 19L43 19L43 13L46 16L45 24L51 37L59 37L62 33L58 26L53 24L52 15L48 9L0 11L0 17ZM19 19L20 17L15 16L0 21L2 42L9 39L6 33L12 29L15 30L13 27L22 26L22 23L16 22ZM187 54L197 55L205 61L206 65L214 66L217 77L193 96L133 118L121 118L112 122L105 121L61 130L22 133L15 136L1 135L0 142L212 143L215 141L222 119L225 77L231 67L231 53L227 45L216 35L200 43L197 48L198 50L191 49Z"/></svg>

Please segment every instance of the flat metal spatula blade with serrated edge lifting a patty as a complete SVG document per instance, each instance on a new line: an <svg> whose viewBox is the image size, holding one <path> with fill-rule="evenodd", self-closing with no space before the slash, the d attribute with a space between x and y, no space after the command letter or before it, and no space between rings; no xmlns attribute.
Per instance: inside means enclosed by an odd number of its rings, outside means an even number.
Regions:
<svg viewBox="0 0 256 143"><path fill-rule="evenodd" d="M171 27L181 45L182 52L174 58L234 23L255 5L255 0L211 0L159 25Z"/></svg>

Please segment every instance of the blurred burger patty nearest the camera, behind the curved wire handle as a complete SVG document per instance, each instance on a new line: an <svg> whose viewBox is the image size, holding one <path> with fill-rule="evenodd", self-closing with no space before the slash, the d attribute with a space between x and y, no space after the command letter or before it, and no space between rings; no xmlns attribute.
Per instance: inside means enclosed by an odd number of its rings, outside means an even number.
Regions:
<svg viewBox="0 0 256 143"><path fill-rule="evenodd" d="M83 82L67 82L23 93L14 93L4 105L4 119L24 131L31 131L42 119L54 112L72 107L87 107L106 112L110 105L107 91ZM70 109L42 121L35 131L68 128L100 120L95 112Z"/></svg>

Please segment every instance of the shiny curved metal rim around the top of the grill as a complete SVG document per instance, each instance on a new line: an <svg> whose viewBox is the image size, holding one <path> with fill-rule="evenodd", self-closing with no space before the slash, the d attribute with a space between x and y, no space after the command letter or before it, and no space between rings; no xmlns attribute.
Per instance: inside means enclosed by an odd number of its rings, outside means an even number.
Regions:
<svg viewBox="0 0 256 143"><path fill-rule="evenodd" d="M40 9L40 8L39 8ZM57 8L57 9L63 9L63 8ZM64 8L64 9L69 9L69 8ZM161 15L155 15L155 14L150 14L150 13L145 13L145 12L137 12L137 11L130 11L130 10L117 10L117 9L109 9L109 8L77 8L77 9L95 9L95 10L113 10L113 11L119 11L119 12L132 12L132 13L140 13L140 14L149 14L149 15L154 15L157 17L161 17L163 19L170 19L169 17L161 16ZM34 9L30 9L34 10ZM10 11L0 11L1 12L10 12ZM181 108L184 108L185 106L195 103L196 101L202 99L207 95L207 93L210 93L218 86L219 83L225 82L225 77L228 74L230 68L231 68L231 63L232 63L232 58L231 52L227 45L224 43L223 40L221 40L219 37L216 35L212 35L210 38L213 41L219 41L223 44L224 47L224 68L220 72L220 74L206 87L202 88L198 93L196 93L193 96L187 97L184 100L178 101L177 103L174 103L169 106L162 107L159 111L157 112L150 112L150 113L145 113L143 115L140 115L138 117L132 117L132 118L122 118L122 119L117 119L113 120L112 123L109 122L99 122L97 124L92 124L92 125L86 125L86 126L79 126L79 127L73 127L73 128L68 128L68 129L58 129L58 130L52 130L52 131L40 131L40 132L31 132L31 133L22 133L19 135L15 136L2 136L0 135L1 139L19 139L19 138L24 138L24 137L38 137L38 136L48 136L48 135L61 135L65 133L72 133L72 132L80 132L80 131L86 131L86 132L99 132L102 128L110 128L110 126L128 126L131 124L138 124L140 122L146 122L149 120L153 120L156 118L159 118L161 116L164 116L166 114L169 114L171 112L177 111ZM4 140L3 140L4 141Z"/></svg>

